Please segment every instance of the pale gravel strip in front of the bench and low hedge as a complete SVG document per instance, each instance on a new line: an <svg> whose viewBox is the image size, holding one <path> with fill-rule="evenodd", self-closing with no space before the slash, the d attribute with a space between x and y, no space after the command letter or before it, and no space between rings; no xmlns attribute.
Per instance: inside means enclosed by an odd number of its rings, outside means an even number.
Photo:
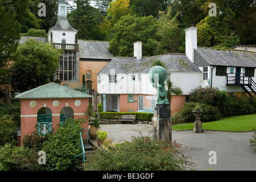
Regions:
<svg viewBox="0 0 256 182"><path fill-rule="evenodd" d="M148 124L113 124L113 125L101 125L101 131L108 133L115 133L120 131L152 131L152 125Z"/></svg>

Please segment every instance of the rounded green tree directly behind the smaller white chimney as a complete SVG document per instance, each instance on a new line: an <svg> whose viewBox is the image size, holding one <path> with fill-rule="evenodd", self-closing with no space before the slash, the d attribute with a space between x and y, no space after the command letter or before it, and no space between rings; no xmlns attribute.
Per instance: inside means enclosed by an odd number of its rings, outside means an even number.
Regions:
<svg viewBox="0 0 256 182"><path fill-rule="evenodd" d="M115 56L133 56L134 42L142 42L142 55L154 56L159 53L158 42L159 22L153 16L137 17L135 15L122 16L113 28L109 50Z"/></svg>

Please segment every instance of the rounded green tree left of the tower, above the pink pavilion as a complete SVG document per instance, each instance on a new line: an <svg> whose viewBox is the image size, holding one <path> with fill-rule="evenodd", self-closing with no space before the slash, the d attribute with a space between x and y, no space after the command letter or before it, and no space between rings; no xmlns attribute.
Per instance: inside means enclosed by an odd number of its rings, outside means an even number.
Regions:
<svg viewBox="0 0 256 182"><path fill-rule="evenodd" d="M11 65L11 87L21 92L47 84L59 67L60 49L34 39L21 44Z"/></svg>

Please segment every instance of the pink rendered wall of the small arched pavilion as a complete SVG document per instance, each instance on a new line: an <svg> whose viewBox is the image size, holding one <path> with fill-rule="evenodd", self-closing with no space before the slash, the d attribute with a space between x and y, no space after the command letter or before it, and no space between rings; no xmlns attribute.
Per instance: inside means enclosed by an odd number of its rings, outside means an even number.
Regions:
<svg viewBox="0 0 256 182"><path fill-rule="evenodd" d="M75 101L80 100L81 105L76 106ZM30 101L36 101L36 106L31 107ZM53 101L59 101L59 106L53 106ZM21 145L23 144L22 139L25 135L31 134L33 131L35 131L35 125L37 123L37 117L31 117L31 115L37 115L38 110L42 107L48 107L52 111L52 129L53 131L56 131L57 125L60 123L60 117L54 116L54 114L60 114L60 110L63 107L71 107L73 109L73 118L84 118L87 120L86 115L76 115L84 113L84 110L87 110L88 108L88 98L58 98L58 99L35 99L35 100L20 100L20 115L22 117L20 118L20 138L21 138ZM29 117L28 117L29 116ZM88 122L82 123L82 128L88 128Z"/></svg>

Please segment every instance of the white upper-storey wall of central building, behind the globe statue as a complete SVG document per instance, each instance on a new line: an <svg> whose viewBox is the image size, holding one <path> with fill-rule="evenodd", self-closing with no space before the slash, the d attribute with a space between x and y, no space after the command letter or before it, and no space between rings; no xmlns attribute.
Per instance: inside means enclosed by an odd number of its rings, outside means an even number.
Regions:
<svg viewBox="0 0 256 182"><path fill-rule="evenodd" d="M154 95L157 90L152 86L147 73L136 73L135 81L131 80L133 74L118 74L117 83L109 83L109 75L100 74L101 82L98 83L99 94L148 94ZM201 85L202 73L172 72L171 81L183 90L183 94L189 94L191 89Z"/></svg>

